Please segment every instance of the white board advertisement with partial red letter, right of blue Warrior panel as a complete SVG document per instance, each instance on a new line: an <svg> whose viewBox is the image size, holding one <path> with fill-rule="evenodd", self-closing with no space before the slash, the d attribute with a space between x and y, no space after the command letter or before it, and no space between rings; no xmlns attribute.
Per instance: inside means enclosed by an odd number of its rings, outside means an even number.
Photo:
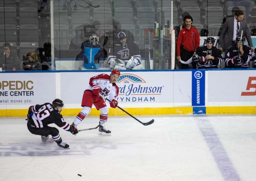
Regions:
<svg viewBox="0 0 256 181"><path fill-rule="evenodd" d="M256 106L256 71L208 71L206 106Z"/></svg>

